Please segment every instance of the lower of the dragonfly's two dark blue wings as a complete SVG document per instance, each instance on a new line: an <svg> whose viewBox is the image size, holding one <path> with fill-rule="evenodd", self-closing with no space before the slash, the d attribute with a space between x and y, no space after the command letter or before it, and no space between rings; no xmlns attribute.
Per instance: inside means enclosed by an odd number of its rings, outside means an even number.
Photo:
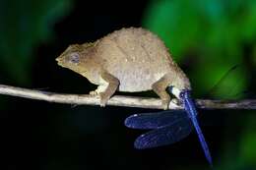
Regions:
<svg viewBox="0 0 256 170"><path fill-rule="evenodd" d="M177 123L141 135L134 142L135 148L143 149L167 145L178 142L187 137L192 131L189 119L182 119Z"/></svg>

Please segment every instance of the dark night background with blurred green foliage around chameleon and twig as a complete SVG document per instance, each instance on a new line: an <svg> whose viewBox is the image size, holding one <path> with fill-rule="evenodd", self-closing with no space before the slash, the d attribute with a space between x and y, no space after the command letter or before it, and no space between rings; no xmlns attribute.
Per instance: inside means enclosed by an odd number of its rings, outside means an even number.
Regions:
<svg viewBox="0 0 256 170"><path fill-rule="evenodd" d="M55 58L70 44L143 27L165 42L189 77L195 98L256 96L254 0L1 0L0 21L3 85L89 93L96 85L57 66ZM0 169L210 169L195 132L171 145L133 148L144 132L124 127L125 118L157 110L4 95L0 110ZM199 110L215 169L256 169L255 120L250 110Z"/></svg>

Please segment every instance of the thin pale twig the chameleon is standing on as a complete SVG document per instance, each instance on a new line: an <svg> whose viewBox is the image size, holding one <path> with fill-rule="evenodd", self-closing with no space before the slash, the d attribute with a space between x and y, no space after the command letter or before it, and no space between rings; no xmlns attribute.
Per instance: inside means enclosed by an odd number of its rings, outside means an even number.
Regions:
<svg viewBox="0 0 256 170"><path fill-rule="evenodd" d="M0 94L65 104L99 105L98 96L62 94L10 85L0 85ZM196 99L196 104L197 107L204 109L256 109L256 99L233 101ZM106 105L160 109L161 101L159 98L114 95ZM182 107L170 102L169 109L182 109Z"/></svg>

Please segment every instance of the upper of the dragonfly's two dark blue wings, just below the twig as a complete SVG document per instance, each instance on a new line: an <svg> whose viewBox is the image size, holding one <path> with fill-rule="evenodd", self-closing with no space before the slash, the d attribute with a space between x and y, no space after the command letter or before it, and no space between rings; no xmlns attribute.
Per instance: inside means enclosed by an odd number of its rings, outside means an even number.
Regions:
<svg viewBox="0 0 256 170"><path fill-rule="evenodd" d="M126 118L124 124L132 129L158 129L173 125L184 118L187 118L184 110L166 110L155 113L134 114Z"/></svg>

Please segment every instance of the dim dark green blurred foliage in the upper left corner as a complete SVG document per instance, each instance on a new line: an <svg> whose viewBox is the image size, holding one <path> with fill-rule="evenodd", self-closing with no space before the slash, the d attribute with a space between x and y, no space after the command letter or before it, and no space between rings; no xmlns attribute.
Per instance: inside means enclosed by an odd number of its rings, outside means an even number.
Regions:
<svg viewBox="0 0 256 170"><path fill-rule="evenodd" d="M30 83L34 47L51 37L53 24L70 8L70 0L0 1L0 65L8 79Z"/></svg>

